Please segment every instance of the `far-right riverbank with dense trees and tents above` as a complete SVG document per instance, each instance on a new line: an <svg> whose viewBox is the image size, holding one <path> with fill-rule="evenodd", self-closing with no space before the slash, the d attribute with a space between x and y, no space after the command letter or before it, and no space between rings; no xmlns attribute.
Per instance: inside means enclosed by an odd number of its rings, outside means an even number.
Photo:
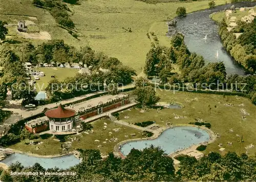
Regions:
<svg viewBox="0 0 256 182"><path fill-rule="evenodd" d="M254 74L256 52L253 50L255 46L253 39L256 37L253 38L253 34L256 34L256 28L253 27L252 21L256 17L256 6L227 9L212 13L209 17L219 25L218 34L227 53L243 67L247 74ZM225 21L222 21L223 19Z"/></svg>

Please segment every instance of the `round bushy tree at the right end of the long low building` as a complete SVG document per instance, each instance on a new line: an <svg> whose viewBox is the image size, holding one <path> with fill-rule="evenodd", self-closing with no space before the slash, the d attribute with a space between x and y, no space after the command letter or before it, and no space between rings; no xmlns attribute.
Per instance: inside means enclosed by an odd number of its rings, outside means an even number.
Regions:
<svg viewBox="0 0 256 182"><path fill-rule="evenodd" d="M136 96L136 100L143 105L151 105L159 100L154 88L151 86L137 87L133 94Z"/></svg>

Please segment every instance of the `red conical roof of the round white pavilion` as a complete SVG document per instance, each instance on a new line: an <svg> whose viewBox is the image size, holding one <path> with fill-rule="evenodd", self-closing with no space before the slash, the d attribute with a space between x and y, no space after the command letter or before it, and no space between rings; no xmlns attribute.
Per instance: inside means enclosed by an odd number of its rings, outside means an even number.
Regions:
<svg viewBox="0 0 256 182"><path fill-rule="evenodd" d="M75 116L76 111L73 109L66 109L61 104L56 109L46 111L45 115L49 118L70 118Z"/></svg>

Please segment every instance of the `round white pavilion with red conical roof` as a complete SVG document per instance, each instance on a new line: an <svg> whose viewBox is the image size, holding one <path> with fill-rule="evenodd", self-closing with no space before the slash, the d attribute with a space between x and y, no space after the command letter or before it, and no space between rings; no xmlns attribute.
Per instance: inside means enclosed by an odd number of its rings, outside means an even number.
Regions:
<svg viewBox="0 0 256 182"><path fill-rule="evenodd" d="M76 111L64 108L59 104L57 108L46 111L45 115L49 119L49 128L51 131L63 132L73 128Z"/></svg>

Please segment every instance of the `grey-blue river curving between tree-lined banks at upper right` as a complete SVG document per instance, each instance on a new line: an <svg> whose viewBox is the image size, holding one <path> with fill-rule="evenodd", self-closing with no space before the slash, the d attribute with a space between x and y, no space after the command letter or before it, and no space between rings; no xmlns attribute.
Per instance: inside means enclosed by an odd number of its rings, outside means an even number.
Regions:
<svg viewBox="0 0 256 182"><path fill-rule="evenodd" d="M221 5L213 9L189 13L186 17L176 17L177 25L176 27L168 26L167 36L178 30L185 35L184 41L190 52L202 55L206 62L223 61L227 74L244 75L245 72L242 67L234 61L223 47L218 34L217 23L209 17L211 13L222 11L225 8L229 9L232 5L235 8L253 7L256 6L256 2ZM204 39L206 35L207 39Z"/></svg>

